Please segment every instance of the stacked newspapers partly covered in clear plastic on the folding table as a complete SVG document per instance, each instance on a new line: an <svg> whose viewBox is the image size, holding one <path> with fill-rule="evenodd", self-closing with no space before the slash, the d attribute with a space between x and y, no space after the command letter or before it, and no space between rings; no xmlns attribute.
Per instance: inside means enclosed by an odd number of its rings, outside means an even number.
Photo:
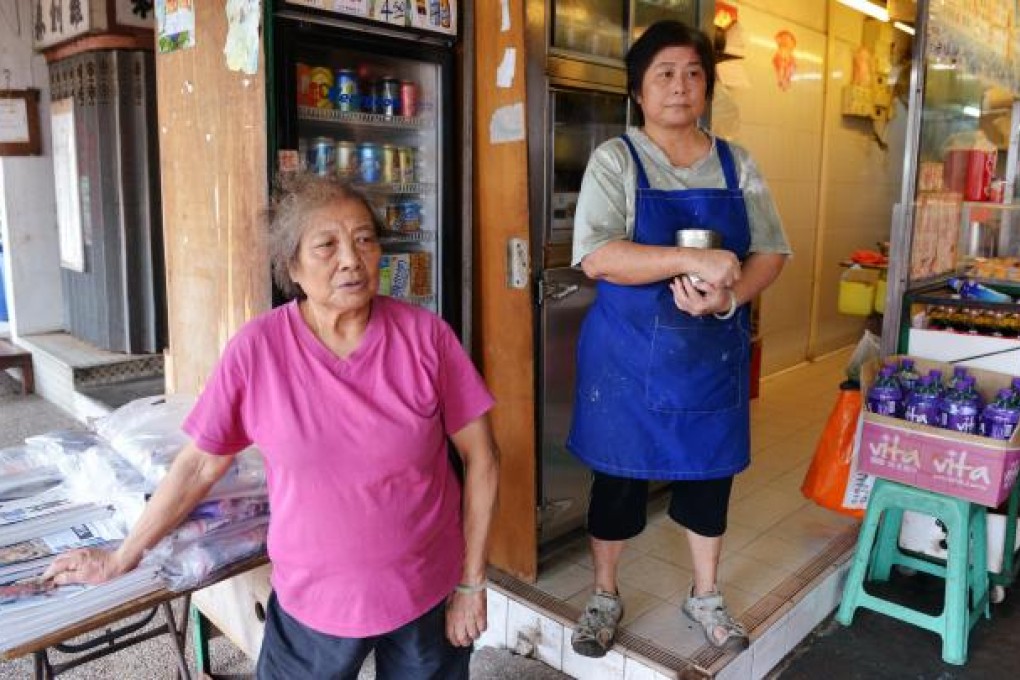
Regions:
<svg viewBox="0 0 1020 680"><path fill-rule="evenodd" d="M113 550L187 442L191 400L132 402L95 423L0 451L0 650L169 587L201 585L265 550L269 505L261 455L227 474L134 571L95 586L54 586L40 575L57 555Z"/></svg>

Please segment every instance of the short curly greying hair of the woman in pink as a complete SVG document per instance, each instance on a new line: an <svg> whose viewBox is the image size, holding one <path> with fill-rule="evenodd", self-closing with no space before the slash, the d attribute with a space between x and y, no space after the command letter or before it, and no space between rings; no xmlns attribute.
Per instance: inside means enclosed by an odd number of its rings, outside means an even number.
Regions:
<svg viewBox="0 0 1020 680"><path fill-rule="evenodd" d="M266 211L269 264L272 266L273 282L288 300L304 298L301 286L291 278L291 265L297 261L298 246L308 227L308 216L342 201L360 201L372 216L375 233L381 232L382 221L375 209L365 195L351 184L308 172L277 177L273 200Z"/></svg>

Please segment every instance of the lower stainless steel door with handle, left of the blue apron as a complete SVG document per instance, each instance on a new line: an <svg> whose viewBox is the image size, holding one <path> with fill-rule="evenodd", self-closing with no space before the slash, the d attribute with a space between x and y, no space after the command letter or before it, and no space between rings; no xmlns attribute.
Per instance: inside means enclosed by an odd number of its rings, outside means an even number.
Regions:
<svg viewBox="0 0 1020 680"><path fill-rule="evenodd" d="M588 508L589 472L566 450L573 410L577 333L595 300L595 282L570 267L542 276L542 437L539 541L581 526Z"/></svg>

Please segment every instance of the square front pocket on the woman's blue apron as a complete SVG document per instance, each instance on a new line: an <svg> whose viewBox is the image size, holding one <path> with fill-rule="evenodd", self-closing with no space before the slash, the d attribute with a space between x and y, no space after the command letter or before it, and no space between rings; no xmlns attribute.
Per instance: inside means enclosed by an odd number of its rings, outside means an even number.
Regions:
<svg viewBox="0 0 1020 680"><path fill-rule="evenodd" d="M735 319L656 323L645 375L645 403L653 411L729 411L746 398L745 333Z"/></svg>

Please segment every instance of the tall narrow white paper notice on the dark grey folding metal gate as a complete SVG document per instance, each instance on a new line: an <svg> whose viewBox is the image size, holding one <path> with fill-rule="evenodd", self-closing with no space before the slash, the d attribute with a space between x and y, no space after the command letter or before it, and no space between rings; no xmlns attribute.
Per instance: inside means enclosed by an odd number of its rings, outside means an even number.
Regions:
<svg viewBox="0 0 1020 680"><path fill-rule="evenodd" d="M72 97L50 104L50 124L53 132L53 189L57 197L60 266L73 271L85 271Z"/></svg>

